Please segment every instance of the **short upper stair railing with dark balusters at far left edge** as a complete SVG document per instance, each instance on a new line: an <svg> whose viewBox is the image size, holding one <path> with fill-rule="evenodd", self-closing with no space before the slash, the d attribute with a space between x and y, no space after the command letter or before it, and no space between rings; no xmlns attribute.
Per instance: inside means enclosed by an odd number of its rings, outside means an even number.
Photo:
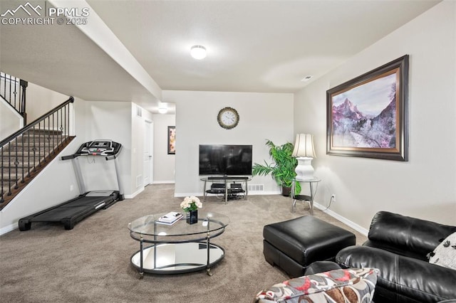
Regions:
<svg viewBox="0 0 456 303"><path fill-rule="evenodd" d="M11 107L24 117L24 125L27 124L26 114L26 89L28 82L6 73L0 73L0 96Z"/></svg>

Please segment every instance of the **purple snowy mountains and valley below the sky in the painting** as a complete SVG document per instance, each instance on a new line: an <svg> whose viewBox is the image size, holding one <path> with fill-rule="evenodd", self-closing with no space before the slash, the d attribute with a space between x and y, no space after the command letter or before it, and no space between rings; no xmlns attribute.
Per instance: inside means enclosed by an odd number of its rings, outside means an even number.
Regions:
<svg viewBox="0 0 456 303"><path fill-rule="evenodd" d="M364 115L348 99L333 106L334 147L395 148L395 133L395 86L388 106L376 117Z"/></svg>

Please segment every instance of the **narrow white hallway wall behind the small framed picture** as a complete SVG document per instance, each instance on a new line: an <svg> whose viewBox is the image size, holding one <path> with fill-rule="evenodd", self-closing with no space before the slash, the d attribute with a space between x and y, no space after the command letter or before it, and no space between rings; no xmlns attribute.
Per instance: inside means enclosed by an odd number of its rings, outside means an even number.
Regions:
<svg viewBox="0 0 456 303"><path fill-rule="evenodd" d="M167 153L167 127L175 126L176 115L152 115L154 122L154 184L175 183L175 155Z"/></svg>

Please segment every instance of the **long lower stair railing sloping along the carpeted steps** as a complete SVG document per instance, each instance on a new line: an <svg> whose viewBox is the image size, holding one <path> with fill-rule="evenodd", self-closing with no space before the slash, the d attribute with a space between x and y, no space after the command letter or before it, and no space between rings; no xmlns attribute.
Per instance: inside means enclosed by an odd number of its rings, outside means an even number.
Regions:
<svg viewBox="0 0 456 303"><path fill-rule="evenodd" d="M0 142L0 209L15 190L26 183L57 151L74 136L71 125L70 97L35 121Z"/></svg>

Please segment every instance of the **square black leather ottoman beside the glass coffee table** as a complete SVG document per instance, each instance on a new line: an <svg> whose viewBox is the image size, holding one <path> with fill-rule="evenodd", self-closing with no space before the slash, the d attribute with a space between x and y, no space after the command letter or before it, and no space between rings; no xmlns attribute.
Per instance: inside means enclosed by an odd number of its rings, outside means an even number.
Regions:
<svg viewBox="0 0 456 303"><path fill-rule="evenodd" d="M314 216L273 223L263 228L263 253L269 264L289 277L301 277L314 261L333 261L339 250L356 244L356 236Z"/></svg>

